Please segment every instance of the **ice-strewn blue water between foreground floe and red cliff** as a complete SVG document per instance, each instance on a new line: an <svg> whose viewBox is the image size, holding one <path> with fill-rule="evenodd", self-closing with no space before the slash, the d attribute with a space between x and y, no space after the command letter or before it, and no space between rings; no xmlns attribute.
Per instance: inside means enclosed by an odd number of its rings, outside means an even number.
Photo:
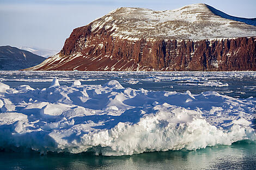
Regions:
<svg viewBox="0 0 256 170"><path fill-rule="evenodd" d="M105 84L118 80L124 87L155 91L217 91L237 98L256 97L256 72L28 72L0 71L0 80L10 87L28 84L33 88L48 87L54 77L60 85L70 86L74 80L82 84Z"/></svg>

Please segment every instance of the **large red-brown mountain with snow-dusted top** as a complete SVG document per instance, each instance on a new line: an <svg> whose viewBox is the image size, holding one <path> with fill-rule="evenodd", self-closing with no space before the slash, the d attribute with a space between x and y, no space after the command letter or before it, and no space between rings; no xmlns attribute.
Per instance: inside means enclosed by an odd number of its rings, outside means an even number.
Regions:
<svg viewBox="0 0 256 170"><path fill-rule="evenodd" d="M256 21L206 4L118 8L74 29L59 54L29 70L256 70Z"/></svg>

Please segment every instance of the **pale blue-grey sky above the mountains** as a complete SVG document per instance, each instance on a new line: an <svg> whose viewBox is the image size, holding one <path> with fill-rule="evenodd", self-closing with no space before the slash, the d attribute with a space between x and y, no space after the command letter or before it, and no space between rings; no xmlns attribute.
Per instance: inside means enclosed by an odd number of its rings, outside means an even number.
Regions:
<svg viewBox="0 0 256 170"><path fill-rule="evenodd" d="M0 0L0 46L60 51L73 29L119 7L172 10L196 3L232 16L256 18L255 0Z"/></svg>

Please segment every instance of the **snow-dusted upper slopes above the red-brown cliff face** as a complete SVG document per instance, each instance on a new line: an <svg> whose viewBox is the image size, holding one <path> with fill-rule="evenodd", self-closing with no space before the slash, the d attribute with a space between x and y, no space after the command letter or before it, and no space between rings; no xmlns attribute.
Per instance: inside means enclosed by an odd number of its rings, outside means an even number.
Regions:
<svg viewBox="0 0 256 170"><path fill-rule="evenodd" d="M92 31L109 29L112 36L139 39L218 39L256 36L256 22L229 16L206 4L175 10L118 8L91 23Z"/></svg>

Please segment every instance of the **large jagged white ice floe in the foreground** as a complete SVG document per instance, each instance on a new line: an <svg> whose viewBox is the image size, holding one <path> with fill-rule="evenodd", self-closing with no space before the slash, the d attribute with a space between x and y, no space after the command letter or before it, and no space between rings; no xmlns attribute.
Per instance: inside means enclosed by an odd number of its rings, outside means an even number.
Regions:
<svg viewBox="0 0 256 170"><path fill-rule="evenodd" d="M105 85L47 89L0 83L0 149L132 155L255 142L256 100L214 91L134 90Z"/></svg>

